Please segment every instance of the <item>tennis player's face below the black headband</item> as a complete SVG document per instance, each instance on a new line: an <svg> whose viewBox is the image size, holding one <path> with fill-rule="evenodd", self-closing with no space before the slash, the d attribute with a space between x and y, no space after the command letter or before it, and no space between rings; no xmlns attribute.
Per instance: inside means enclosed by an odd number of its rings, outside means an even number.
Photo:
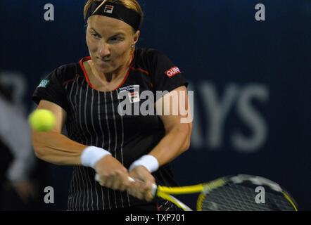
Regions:
<svg viewBox="0 0 311 225"><path fill-rule="evenodd" d="M136 43L139 31L133 34L127 23L102 15L88 20L87 46L96 70L115 72L132 59L131 45Z"/></svg>

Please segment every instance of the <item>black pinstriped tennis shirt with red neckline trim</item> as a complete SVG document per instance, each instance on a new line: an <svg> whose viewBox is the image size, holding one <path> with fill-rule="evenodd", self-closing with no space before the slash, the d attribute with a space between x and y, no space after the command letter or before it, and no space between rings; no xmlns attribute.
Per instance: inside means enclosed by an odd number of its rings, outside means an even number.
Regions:
<svg viewBox="0 0 311 225"><path fill-rule="evenodd" d="M32 99L44 99L61 106L66 113L68 137L87 146L108 150L122 165L129 165L149 153L165 135L158 115L122 115L118 98L128 91L132 105L144 103L142 91L172 91L187 85L179 69L165 54L155 49L136 49L123 82L113 91L97 91L91 86L82 62L62 65L40 82ZM148 100L150 101L150 99ZM156 98L153 99L156 101ZM134 107L133 109L134 110ZM132 111L134 113L134 111ZM128 195L100 186L91 167L74 166L68 195L68 210L112 210L146 203ZM153 172L157 184L176 186L170 164Z"/></svg>

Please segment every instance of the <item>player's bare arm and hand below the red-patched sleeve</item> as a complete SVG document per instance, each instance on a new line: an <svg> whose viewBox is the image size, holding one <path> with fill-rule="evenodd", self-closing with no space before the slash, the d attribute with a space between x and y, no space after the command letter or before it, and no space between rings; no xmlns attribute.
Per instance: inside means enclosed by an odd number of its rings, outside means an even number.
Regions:
<svg viewBox="0 0 311 225"><path fill-rule="evenodd" d="M178 99L179 101L181 92L186 93L185 86L180 86L167 95L170 96L172 94L177 94L178 98L175 99ZM174 108L174 102L172 99L170 99L170 101L164 101L164 98L165 97L163 96L162 101L157 101L157 103L162 104L163 112L160 113L160 119L163 121L165 127L165 136L149 153L149 155L152 155L158 161L159 167L174 160L174 158L177 158L178 155L184 153L184 151L189 148L192 130L192 122L189 121L187 123L181 123L181 119L189 117L189 115L184 115L184 113L181 113L180 111L178 115L173 115L172 110ZM185 108L187 110L190 107L187 95L185 95L184 101ZM169 115L164 115L165 109L170 109ZM188 111L189 113L191 112L191 110ZM144 166L138 166L132 169L129 174L131 177L144 182L141 182L139 189L132 187L128 190L128 192L134 196L137 196L137 198L145 198L150 201L153 196L149 190L151 190L152 184L155 183L155 179L148 169Z"/></svg>

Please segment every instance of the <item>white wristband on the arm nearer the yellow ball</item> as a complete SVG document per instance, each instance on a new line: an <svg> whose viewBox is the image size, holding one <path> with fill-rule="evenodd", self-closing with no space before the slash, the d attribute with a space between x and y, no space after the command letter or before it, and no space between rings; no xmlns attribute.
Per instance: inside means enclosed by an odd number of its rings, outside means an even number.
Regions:
<svg viewBox="0 0 311 225"><path fill-rule="evenodd" d="M84 148L81 154L81 164L85 167L92 167L95 169L96 162L99 162L101 158L106 155L111 155L108 150L98 148L96 146L89 146Z"/></svg>

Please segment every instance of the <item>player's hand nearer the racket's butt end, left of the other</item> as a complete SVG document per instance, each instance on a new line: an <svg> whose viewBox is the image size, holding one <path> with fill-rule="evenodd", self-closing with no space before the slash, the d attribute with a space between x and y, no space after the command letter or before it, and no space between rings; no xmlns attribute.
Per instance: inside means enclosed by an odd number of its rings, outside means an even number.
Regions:
<svg viewBox="0 0 311 225"><path fill-rule="evenodd" d="M95 165L96 173L99 174L99 184L112 188L113 190L125 191L132 186L129 181L129 172L127 169L113 156L106 155Z"/></svg>

